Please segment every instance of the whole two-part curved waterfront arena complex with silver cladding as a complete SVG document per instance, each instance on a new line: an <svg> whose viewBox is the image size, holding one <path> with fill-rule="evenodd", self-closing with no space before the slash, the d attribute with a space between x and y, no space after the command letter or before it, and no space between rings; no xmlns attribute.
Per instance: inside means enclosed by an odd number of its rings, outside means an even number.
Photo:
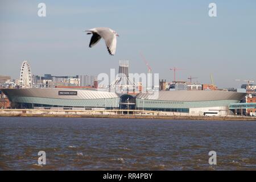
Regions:
<svg viewBox="0 0 256 182"><path fill-rule="evenodd" d="M230 115L230 104L245 93L217 90L179 90L117 94L102 90L68 88L2 89L15 108L64 110L151 110L189 115Z"/></svg>

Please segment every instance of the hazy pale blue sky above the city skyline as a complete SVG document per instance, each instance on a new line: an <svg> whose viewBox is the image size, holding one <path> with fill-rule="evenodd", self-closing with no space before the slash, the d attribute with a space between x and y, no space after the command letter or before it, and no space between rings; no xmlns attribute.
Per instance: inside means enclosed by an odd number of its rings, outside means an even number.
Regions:
<svg viewBox="0 0 256 182"><path fill-rule="evenodd" d="M37 15L38 3L47 16ZM217 17L208 16L210 2ZM236 79L256 81L256 1L0 1L0 75L19 77L23 60L32 74L98 75L130 60L130 72L154 73L173 80L198 77L219 87L238 87ZM105 43L89 48L93 27L110 27L120 35L117 52Z"/></svg>

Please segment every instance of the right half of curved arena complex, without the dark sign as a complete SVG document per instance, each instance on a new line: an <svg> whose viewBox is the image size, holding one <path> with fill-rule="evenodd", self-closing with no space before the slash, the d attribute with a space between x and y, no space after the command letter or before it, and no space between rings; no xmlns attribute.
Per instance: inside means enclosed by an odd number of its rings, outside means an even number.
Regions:
<svg viewBox="0 0 256 182"><path fill-rule="evenodd" d="M228 109L229 105L240 102L244 96L245 93L212 90L140 93L136 96L136 107L142 110L170 111L189 115L232 115Z"/></svg>

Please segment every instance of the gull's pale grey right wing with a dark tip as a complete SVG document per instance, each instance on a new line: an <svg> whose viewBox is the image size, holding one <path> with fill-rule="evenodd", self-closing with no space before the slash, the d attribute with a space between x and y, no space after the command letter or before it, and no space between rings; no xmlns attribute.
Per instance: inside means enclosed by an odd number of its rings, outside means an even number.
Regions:
<svg viewBox="0 0 256 182"><path fill-rule="evenodd" d="M97 33L105 40L106 47L108 48L110 55L113 56L117 47L117 36L115 36L109 28L100 28L97 30Z"/></svg>

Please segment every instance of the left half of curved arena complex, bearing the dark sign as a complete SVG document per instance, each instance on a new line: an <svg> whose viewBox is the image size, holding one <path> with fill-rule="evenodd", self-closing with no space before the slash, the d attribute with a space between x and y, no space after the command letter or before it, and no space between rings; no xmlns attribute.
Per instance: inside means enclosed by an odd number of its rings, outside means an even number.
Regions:
<svg viewBox="0 0 256 182"><path fill-rule="evenodd" d="M92 89L30 88L2 89L16 108L118 108L119 96Z"/></svg>

